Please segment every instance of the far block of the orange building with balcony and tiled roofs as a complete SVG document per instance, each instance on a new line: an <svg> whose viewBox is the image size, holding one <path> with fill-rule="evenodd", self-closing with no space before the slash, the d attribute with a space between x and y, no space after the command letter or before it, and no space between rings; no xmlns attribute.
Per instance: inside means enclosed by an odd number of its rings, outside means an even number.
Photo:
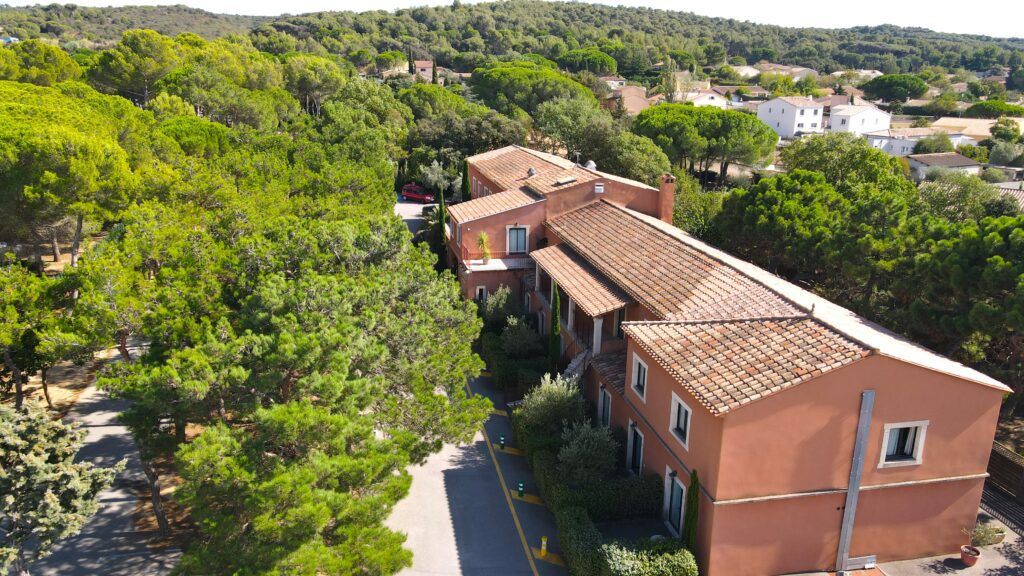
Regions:
<svg viewBox="0 0 1024 576"><path fill-rule="evenodd" d="M547 245L544 223L596 199L672 218L674 182L656 189L518 146L466 161L471 200L449 208L446 234L467 298L486 298L503 285L521 295L522 278L534 270L529 254Z"/></svg>

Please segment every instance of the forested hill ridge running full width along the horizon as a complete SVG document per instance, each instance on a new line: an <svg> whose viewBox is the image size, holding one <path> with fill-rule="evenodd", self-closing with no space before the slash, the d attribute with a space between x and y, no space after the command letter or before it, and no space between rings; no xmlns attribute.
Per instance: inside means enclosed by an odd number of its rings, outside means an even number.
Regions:
<svg viewBox="0 0 1024 576"><path fill-rule="evenodd" d="M77 40L98 47L132 28L212 38L256 28L266 51L324 50L356 65L388 50L434 57L469 72L487 55L539 53L557 59L581 46L614 57L620 72L638 74L672 51L715 66L729 57L768 59L821 72L844 68L915 72L928 66L986 70L1006 65L1024 39L945 34L895 26L843 30L783 28L690 12L580 2L512 0L366 12L323 12L278 18L211 14L181 6L84 8L51 4L4 7L0 27L22 38Z"/></svg>

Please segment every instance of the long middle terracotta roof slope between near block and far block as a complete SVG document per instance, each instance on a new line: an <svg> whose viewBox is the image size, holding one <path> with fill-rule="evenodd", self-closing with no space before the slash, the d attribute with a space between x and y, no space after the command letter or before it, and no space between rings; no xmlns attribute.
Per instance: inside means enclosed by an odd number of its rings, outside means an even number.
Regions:
<svg viewBox="0 0 1024 576"><path fill-rule="evenodd" d="M601 274L665 320L802 314L777 293L606 202L547 224Z"/></svg>

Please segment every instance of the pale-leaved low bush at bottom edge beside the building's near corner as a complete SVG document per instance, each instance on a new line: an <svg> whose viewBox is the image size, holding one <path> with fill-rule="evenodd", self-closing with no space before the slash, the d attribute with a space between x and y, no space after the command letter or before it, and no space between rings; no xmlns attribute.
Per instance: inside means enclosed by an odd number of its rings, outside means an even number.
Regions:
<svg viewBox="0 0 1024 576"><path fill-rule="evenodd" d="M696 576L697 563L679 540L662 538L601 545L601 576Z"/></svg>

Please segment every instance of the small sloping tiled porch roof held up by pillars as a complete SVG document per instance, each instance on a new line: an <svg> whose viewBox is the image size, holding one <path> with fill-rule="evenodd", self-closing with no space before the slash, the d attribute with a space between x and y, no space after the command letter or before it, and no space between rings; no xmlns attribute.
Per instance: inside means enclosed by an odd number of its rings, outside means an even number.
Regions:
<svg viewBox="0 0 1024 576"><path fill-rule="evenodd" d="M601 316L633 301L565 244L535 250L529 255L587 316Z"/></svg>

